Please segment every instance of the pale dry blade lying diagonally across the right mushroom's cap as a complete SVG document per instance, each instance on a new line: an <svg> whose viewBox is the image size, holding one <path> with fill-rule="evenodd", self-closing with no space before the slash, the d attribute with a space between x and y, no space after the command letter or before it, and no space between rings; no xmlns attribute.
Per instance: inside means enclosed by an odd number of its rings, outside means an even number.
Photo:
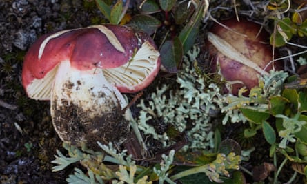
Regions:
<svg viewBox="0 0 307 184"><path fill-rule="evenodd" d="M221 52L221 54L224 54L226 57L233 59L241 64L247 65L250 68L253 68L259 74L261 75L268 75L268 72L263 70L259 67L255 62L251 61L247 57L245 57L243 54L238 52L230 43L227 41L224 41L224 39L221 39L221 37L217 36L216 34L213 34L212 32L208 32L208 41L212 43L212 45Z"/></svg>

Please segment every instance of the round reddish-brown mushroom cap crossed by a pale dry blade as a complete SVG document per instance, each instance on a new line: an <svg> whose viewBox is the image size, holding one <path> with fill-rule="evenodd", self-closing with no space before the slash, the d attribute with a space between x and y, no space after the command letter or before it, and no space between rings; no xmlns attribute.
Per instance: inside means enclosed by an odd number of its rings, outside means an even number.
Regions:
<svg viewBox="0 0 307 184"><path fill-rule="evenodd" d="M226 25L225 28L222 25ZM259 75L280 68L270 63L273 50L266 44L269 35L261 27L245 19L228 19L212 26L208 32L207 49L212 61L211 69L219 68L221 75L231 83L229 91L237 95L239 89L248 90L258 85Z"/></svg>

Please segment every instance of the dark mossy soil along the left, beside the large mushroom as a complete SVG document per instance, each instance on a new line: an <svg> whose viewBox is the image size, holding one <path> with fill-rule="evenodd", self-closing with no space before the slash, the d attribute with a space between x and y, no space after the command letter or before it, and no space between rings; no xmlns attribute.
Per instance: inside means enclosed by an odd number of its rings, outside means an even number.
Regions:
<svg viewBox="0 0 307 184"><path fill-rule="evenodd" d="M0 1L1 183L66 183L72 170L52 172L50 163L61 150L50 103L28 99L22 88L23 56L42 34L103 21L94 1Z"/></svg>

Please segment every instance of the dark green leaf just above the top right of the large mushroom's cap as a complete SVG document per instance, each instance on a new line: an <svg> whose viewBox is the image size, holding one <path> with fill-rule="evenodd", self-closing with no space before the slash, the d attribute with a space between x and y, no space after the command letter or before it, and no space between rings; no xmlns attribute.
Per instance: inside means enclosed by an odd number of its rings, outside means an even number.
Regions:
<svg viewBox="0 0 307 184"><path fill-rule="evenodd" d="M158 19L147 14L135 15L129 24L144 30L147 34L153 34L161 26L161 22Z"/></svg>

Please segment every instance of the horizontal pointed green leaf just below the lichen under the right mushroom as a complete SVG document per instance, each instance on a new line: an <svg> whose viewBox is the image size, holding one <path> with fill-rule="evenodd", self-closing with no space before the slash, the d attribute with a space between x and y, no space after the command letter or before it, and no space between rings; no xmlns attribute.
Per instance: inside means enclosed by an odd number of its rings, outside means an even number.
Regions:
<svg viewBox="0 0 307 184"><path fill-rule="evenodd" d="M245 108L240 108L239 110L246 117L246 119L254 123L257 123L257 124L260 124L263 121L266 121L266 119L270 117L270 113L268 112L259 112L257 110L250 110L250 109L245 109Z"/></svg>

